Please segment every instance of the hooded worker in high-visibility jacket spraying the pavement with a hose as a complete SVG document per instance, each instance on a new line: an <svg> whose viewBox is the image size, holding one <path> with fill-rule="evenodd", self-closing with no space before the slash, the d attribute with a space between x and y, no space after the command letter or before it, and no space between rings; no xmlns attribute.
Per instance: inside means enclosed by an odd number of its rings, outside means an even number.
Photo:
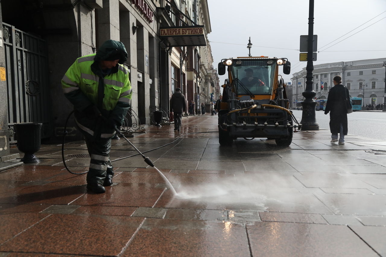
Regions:
<svg viewBox="0 0 386 257"><path fill-rule="evenodd" d="M105 186L113 184L111 139L130 108L132 96L129 70L122 65L126 59L124 44L108 40L96 54L76 59L61 80L91 157L86 188L94 193L105 193Z"/></svg>

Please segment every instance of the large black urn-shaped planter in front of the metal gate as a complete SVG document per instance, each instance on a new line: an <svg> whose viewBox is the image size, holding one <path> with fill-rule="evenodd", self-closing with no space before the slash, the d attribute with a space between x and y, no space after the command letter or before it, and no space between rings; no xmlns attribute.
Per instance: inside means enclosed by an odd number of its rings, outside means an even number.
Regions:
<svg viewBox="0 0 386 257"><path fill-rule="evenodd" d="M21 159L24 163L39 162L35 153L40 149L42 123L15 124L17 135L17 149L24 152Z"/></svg>

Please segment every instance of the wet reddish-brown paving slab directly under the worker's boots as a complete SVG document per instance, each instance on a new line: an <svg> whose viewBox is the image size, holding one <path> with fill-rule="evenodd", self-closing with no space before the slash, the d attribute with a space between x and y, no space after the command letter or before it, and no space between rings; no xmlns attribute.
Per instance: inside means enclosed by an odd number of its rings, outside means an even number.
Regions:
<svg viewBox="0 0 386 257"><path fill-rule="evenodd" d="M164 188L151 188L144 185L120 183L107 187L106 193L104 194L85 194L72 204L152 207L163 191Z"/></svg>

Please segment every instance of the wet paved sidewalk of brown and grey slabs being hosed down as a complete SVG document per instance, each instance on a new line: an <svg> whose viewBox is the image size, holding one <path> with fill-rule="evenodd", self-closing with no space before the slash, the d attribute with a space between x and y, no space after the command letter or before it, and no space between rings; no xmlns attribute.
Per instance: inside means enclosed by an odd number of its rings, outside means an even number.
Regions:
<svg viewBox="0 0 386 257"><path fill-rule="evenodd" d="M0 172L0 257L386 257L386 142L349 134L332 144L319 130L289 147L220 147L213 131L217 117L201 115L184 117L181 132L146 126L130 138L141 151L161 147L145 155L177 195L141 156L122 159L136 154L123 139L104 194L64 169L61 145L42 145L40 163ZM85 142L65 149L69 169L87 171Z"/></svg>

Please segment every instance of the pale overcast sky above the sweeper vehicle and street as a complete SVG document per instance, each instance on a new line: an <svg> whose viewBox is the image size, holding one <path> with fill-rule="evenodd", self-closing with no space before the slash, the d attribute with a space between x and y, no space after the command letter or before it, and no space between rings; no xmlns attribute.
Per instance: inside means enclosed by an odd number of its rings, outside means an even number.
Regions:
<svg viewBox="0 0 386 257"><path fill-rule="evenodd" d="M288 58L291 74L305 68L307 62L299 62L299 46L300 35L308 34L308 0L208 0L208 7L215 68L221 59L248 56L249 37L251 56ZM383 57L386 61L386 0L315 0L314 35L320 51L314 65ZM279 71L290 81L291 74ZM225 78L220 76L220 85Z"/></svg>

